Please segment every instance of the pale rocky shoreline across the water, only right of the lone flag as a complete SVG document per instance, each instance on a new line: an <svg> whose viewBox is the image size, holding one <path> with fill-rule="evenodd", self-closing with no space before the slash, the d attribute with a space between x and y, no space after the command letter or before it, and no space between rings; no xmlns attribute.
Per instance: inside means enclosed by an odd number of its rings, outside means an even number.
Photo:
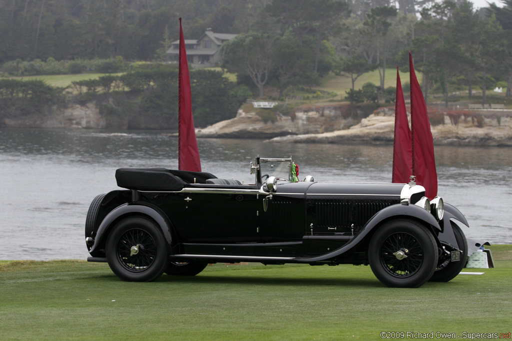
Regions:
<svg viewBox="0 0 512 341"><path fill-rule="evenodd" d="M474 119L475 115L479 117ZM431 127L435 145L512 147L512 111L467 112L452 124L449 116ZM295 120L279 116L265 123L255 113L197 129L200 138L264 138L273 143L393 144L394 110L381 108L360 123L340 117L336 109L296 111ZM326 131L328 130L328 131Z"/></svg>

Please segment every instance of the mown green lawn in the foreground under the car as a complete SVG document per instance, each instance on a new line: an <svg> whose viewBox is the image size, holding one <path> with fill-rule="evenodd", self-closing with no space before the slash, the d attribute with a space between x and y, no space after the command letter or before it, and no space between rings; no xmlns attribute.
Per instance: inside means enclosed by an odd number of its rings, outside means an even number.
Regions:
<svg viewBox="0 0 512 341"><path fill-rule="evenodd" d="M0 262L2 339L339 340L510 331L512 245L449 283L383 286L368 266L216 264L120 281L103 263Z"/></svg>

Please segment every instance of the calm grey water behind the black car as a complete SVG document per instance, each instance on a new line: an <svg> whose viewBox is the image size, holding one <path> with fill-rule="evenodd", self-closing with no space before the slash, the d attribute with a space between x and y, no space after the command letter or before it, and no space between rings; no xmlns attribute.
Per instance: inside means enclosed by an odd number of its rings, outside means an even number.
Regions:
<svg viewBox="0 0 512 341"><path fill-rule="evenodd" d="M257 155L292 155L300 178L391 181L392 146L199 139L203 171L253 180ZM118 189L120 167L177 168L177 139L161 131L0 128L0 259L85 259L92 199ZM512 148L436 147L438 195L466 216L469 238L512 243Z"/></svg>

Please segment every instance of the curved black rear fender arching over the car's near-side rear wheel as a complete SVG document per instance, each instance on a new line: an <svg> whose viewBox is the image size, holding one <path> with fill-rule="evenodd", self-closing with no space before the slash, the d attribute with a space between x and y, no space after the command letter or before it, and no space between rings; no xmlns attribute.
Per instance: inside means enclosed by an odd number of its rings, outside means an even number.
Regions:
<svg viewBox="0 0 512 341"><path fill-rule="evenodd" d="M101 224L99 225L98 231L96 233L96 237L94 238L94 244L92 245L89 253L92 255L94 251L99 247L99 245L104 244L104 239L108 232L112 229L112 226L123 216L129 216L133 214L141 214L151 217L156 223L159 225L160 230L162 231L165 240L167 241L167 245L170 246L172 241L171 234L171 226L172 223L167 218L167 216L158 208L146 206L145 204L140 203L125 203L121 206L112 210L106 217L103 219ZM170 249L170 247L169 247Z"/></svg>

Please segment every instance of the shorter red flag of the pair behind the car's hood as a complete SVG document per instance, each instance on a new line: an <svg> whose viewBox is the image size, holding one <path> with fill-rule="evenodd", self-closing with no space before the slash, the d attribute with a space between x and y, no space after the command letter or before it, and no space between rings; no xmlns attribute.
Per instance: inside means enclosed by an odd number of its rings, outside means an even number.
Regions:
<svg viewBox="0 0 512 341"><path fill-rule="evenodd" d="M395 139L393 144L393 183L408 183L412 170L411 129L407 120L406 102L396 67Z"/></svg>

